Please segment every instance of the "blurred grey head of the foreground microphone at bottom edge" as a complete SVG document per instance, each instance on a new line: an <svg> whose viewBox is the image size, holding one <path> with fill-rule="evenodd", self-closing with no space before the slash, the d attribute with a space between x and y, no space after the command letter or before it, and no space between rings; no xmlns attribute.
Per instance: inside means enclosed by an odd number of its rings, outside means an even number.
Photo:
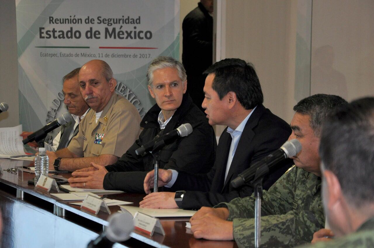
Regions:
<svg viewBox="0 0 374 248"><path fill-rule="evenodd" d="M130 238L134 221L130 213L114 213L108 218L107 238L112 242L122 242Z"/></svg>

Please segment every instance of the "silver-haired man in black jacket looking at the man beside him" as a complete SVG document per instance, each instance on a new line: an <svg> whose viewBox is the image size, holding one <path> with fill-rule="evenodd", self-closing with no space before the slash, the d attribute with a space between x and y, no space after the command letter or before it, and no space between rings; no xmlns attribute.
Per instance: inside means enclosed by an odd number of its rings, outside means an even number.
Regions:
<svg viewBox="0 0 374 248"><path fill-rule="evenodd" d="M148 67L147 80L151 96L156 103L145 114L140 126L139 139L113 165L105 167L92 163L93 167L77 170L75 178L69 179L71 186L99 189L116 189L127 192L144 192L143 180L153 167L153 156L141 157L135 150L142 144L174 130L181 124L190 123L190 135L166 142L159 152L160 168L208 172L215 158L215 134L205 115L186 93L187 80L183 65L170 57L158 57ZM82 178L87 177L87 178ZM83 181L82 181L83 180Z"/></svg>

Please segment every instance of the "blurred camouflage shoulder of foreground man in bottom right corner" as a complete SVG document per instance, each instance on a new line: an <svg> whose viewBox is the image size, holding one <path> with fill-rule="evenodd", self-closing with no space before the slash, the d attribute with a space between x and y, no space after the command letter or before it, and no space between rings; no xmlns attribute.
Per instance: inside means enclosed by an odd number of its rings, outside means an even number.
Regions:
<svg viewBox="0 0 374 248"><path fill-rule="evenodd" d="M367 220L355 233L328 242L318 242L314 245L303 245L308 248L367 248L374 247L374 218Z"/></svg>

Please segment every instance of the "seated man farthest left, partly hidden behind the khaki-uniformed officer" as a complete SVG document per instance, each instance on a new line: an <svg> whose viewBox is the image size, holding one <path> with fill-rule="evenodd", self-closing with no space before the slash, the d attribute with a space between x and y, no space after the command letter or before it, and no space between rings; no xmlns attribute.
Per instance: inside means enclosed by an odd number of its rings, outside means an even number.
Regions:
<svg viewBox="0 0 374 248"><path fill-rule="evenodd" d="M83 99L79 90L79 70L80 68L76 68L62 78L62 93L64 93L65 96L64 103L73 117L73 120L61 126L61 131L56 135L55 139L53 139L52 145L45 142L44 147L47 151L54 152L67 147L71 139L73 139L73 137L78 133L80 120L82 120L88 112L89 106ZM33 132L22 132L20 136L22 136L23 139L26 139L26 137L32 133ZM28 145L35 148L38 147L38 144L35 141L28 143Z"/></svg>

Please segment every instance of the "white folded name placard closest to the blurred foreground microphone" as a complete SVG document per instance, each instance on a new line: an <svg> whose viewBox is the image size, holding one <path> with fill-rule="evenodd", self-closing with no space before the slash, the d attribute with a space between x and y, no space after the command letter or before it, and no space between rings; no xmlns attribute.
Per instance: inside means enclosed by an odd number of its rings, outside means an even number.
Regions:
<svg viewBox="0 0 374 248"><path fill-rule="evenodd" d="M146 233L150 236L152 236L154 232L165 236L165 231L160 223L160 220L147 214L140 212L135 213L134 226L135 230Z"/></svg>

